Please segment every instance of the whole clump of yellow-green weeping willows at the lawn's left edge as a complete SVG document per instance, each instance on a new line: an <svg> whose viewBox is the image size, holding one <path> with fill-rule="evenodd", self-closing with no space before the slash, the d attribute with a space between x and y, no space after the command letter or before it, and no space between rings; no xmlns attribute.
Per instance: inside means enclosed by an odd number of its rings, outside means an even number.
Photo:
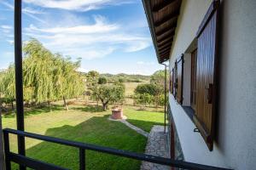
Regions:
<svg viewBox="0 0 256 170"><path fill-rule="evenodd" d="M77 97L84 92L79 72L80 60L73 62L61 54L52 54L36 39L24 44L23 87L26 104L50 102ZM10 65L3 74L0 90L6 99L15 99L15 67ZM68 109L68 108L67 108Z"/></svg>

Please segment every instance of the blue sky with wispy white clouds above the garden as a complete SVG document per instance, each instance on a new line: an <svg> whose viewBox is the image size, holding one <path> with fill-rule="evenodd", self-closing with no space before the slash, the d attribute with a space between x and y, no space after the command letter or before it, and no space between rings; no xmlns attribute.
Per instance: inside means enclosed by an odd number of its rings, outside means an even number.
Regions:
<svg viewBox="0 0 256 170"><path fill-rule="evenodd" d="M81 58L79 71L151 75L163 69L141 0L23 0L22 40ZM0 69L14 63L14 0L0 0Z"/></svg>

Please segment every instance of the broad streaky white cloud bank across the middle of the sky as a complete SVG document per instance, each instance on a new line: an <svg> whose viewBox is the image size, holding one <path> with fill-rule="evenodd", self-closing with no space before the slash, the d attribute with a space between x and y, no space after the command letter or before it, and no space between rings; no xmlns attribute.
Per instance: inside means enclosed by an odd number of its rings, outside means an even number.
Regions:
<svg viewBox="0 0 256 170"><path fill-rule="evenodd" d="M29 26L25 29L26 37L35 37L46 48L64 55L83 59L103 58L115 50L125 53L148 48L150 37L124 31L118 24L109 24L108 20L98 15L94 24L44 27Z"/></svg>

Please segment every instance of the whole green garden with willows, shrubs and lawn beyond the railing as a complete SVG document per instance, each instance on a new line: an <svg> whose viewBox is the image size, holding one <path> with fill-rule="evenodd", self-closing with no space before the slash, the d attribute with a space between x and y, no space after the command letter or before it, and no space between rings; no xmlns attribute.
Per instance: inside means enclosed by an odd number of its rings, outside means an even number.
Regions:
<svg viewBox="0 0 256 170"><path fill-rule="evenodd" d="M147 133L154 125L163 125L163 71L151 77L83 73L77 71L79 59L73 62L52 54L35 39L23 51L26 132L143 153L147 138L122 122L108 120L112 108L121 108L127 122ZM0 71L3 128L16 128L14 77L14 65ZM10 149L17 152L15 135L10 135ZM139 169L141 165L141 161L96 151L85 154L87 169ZM26 139L26 156L79 169L79 150L61 144Z"/></svg>

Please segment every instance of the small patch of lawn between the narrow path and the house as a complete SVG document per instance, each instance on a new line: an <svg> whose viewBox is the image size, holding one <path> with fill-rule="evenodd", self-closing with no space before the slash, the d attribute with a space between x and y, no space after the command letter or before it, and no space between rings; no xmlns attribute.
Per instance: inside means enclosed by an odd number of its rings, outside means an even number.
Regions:
<svg viewBox="0 0 256 170"><path fill-rule="evenodd" d="M142 128L146 132L150 132L153 125L164 125L165 115L163 112L136 111L128 107L125 108L124 114L127 116L127 122Z"/></svg>

